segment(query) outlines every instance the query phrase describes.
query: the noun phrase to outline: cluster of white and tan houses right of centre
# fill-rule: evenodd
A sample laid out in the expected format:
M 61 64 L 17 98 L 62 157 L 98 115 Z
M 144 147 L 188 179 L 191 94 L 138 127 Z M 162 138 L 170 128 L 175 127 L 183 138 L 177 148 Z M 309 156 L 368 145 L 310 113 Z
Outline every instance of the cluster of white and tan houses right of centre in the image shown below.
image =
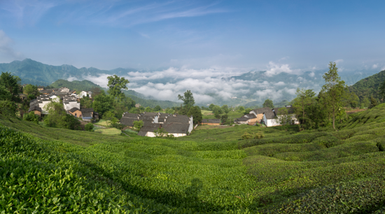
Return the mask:
M 295 117 L 292 106 L 285 106 L 284 108 L 288 110 L 288 114 L 291 117 L 290 124 L 299 124 L 300 122 Z M 279 117 L 281 117 L 281 115 L 279 115 L 278 109 L 279 108 L 268 107 L 253 109 L 247 115 L 235 119 L 234 123 L 254 125 L 258 122 L 260 124 L 265 124 L 266 127 L 279 126 L 281 125 L 279 122 Z

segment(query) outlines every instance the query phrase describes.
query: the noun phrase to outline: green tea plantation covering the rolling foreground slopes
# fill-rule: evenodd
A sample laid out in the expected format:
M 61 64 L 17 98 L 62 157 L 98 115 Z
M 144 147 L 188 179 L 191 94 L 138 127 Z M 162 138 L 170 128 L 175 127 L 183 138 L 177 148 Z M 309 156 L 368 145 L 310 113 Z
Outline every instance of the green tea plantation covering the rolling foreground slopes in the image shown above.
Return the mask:
M 385 104 L 338 129 L 202 126 L 172 140 L 0 115 L 0 213 L 384 213 Z

